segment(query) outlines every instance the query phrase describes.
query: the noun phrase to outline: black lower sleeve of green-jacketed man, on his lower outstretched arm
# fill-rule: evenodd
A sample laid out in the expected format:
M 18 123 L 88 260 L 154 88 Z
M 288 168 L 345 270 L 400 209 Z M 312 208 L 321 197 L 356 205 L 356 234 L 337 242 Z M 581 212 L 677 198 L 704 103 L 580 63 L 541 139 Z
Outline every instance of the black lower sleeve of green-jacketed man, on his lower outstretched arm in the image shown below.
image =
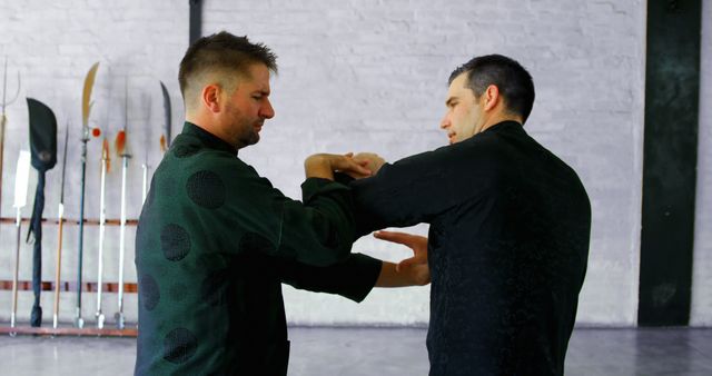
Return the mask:
M 327 267 L 288 260 L 275 260 L 275 265 L 280 280 L 295 288 L 362 301 L 376 284 L 383 263 L 366 255 L 352 254 L 345 261 Z

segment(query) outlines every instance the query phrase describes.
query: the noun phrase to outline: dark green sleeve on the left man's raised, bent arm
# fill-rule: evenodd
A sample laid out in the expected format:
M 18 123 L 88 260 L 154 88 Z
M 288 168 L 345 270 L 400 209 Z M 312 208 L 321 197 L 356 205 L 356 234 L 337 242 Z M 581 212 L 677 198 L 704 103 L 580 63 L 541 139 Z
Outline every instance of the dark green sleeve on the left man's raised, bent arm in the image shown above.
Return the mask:
M 304 201 L 293 200 L 239 159 L 211 165 L 226 186 L 225 204 L 198 220 L 215 228 L 217 249 L 259 251 L 314 266 L 345 260 L 354 238 L 349 188 L 310 178 L 303 185 Z M 206 224 L 207 225 L 207 224 Z

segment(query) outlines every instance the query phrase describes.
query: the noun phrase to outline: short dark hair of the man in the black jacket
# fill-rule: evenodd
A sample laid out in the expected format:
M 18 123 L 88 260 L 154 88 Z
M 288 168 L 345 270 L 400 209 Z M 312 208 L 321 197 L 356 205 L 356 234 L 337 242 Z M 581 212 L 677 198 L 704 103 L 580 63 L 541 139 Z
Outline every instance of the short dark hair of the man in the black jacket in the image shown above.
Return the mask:
M 467 73 L 466 86 L 479 98 L 490 85 L 500 89 L 510 112 L 522 117 L 522 122 L 532 112 L 534 106 L 534 81 L 530 72 L 518 62 L 502 55 L 476 57 L 457 67 L 447 83 L 462 73 Z

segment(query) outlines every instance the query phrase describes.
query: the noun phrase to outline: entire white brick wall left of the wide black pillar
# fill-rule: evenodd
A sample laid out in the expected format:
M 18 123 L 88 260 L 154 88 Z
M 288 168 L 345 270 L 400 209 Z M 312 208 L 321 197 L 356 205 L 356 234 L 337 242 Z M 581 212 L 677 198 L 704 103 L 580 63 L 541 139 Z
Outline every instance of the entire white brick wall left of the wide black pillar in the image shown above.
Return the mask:
M 248 34 L 279 56 L 280 73 L 273 80 L 277 116 L 267 122 L 260 144 L 240 156 L 291 197 L 299 197 L 301 161 L 309 154 L 373 150 L 395 160 L 444 145 L 437 125 L 449 72 L 477 55 L 498 52 L 520 60 L 537 87 L 528 131 L 578 171 L 593 204 L 590 268 L 578 323 L 635 324 L 644 1 L 206 0 L 204 7 L 205 33 L 225 29 Z M 109 122 L 111 137 L 123 119 L 123 77 L 131 75 L 129 121 L 135 136 L 129 146 L 136 155 L 131 195 L 140 197 L 139 160 L 146 150 L 152 166 L 160 157 L 158 79 L 171 91 L 174 119 L 177 123 L 182 119 L 176 77 L 187 47 L 188 1 L 0 1 L 0 57 L 10 57 L 11 75 L 17 69 L 22 72 L 22 95 L 52 107 L 61 129 L 71 119 L 75 140 L 82 79 L 91 63 L 101 61 L 92 120 Z M 12 106 L 8 117 L 4 217 L 12 215 L 17 150 L 28 144 L 24 105 Z M 88 169 L 87 215 L 96 217 L 99 142 L 92 140 L 89 148 L 95 158 Z M 73 169 L 66 201 L 72 218 L 79 206 L 79 150 L 75 145 L 69 156 Z M 116 160 L 115 166 L 119 166 Z M 47 217 L 56 216 L 59 174 L 55 168 L 48 175 Z M 115 170 L 109 184 L 118 187 L 119 181 Z M 115 218 L 118 188 L 109 198 L 108 215 Z M 130 217 L 138 211 L 135 199 Z M 426 227 L 417 230 L 424 232 Z M 118 228 L 109 231 L 116 236 Z M 47 226 L 44 234 L 43 273 L 50 279 L 55 227 Z M 96 279 L 96 228 L 88 228 L 85 235 L 87 280 Z M 11 276 L 12 239 L 13 227 L 3 225 L 0 279 Z M 68 226 L 62 274 L 72 280 L 76 241 L 76 227 Z M 24 278 L 29 249 L 23 248 Z M 359 240 L 355 249 L 392 260 L 407 256 L 403 248 L 370 239 Z M 116 279 L 117 253 L 118 245 L 107 249 L 107 280 Z M 135 280 L 132 254 L 127 267 L 129 280 Z M 428 288 L 377 290 L 360 305 L 290 288 L 285 295 L 293 323 L 403 325 L 424 324 L 428 317 Z M 23 294 L 20 301 L 26 317 L 30 296 Z M 113 296 L 109 297 L 105 311 L 113 313 Z M 93 295 L 86 294 L 83 301 L 85 316 L 91 317 Z M 136 317 L 135 300 L 129 303 L 127 314 Z M 49 311 L 51 294 L 44 294 L 43 306 Z M 65 295 L 63 317 L 72 316 L 72 306 L 73 295 Z M 0 293 L 1 318 L 7 319 L 9 307 L 9 293 Z

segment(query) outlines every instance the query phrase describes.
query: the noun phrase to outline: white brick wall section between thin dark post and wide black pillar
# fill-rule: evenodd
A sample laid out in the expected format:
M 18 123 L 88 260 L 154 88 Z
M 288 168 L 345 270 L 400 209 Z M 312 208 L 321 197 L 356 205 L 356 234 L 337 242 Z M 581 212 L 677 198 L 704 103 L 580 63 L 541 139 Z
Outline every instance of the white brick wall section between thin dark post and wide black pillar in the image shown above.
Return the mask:
M 310 152 L 394 160 L 444 145 L 449 72 L 477 55 L 520 60 L 538 91 L 527 129 L 580 172 L 593 202 L 578 321 L 634 325 L 644 17 L 642 1 L 207 0 L 204 31 L 248 34 L 279 56 L 277 116 L 241 156 L 295 197 Z M 355 249 L 405 256 L 370 239 Z M 360 305 L 288 288 L 286 299 L 290 319 L 305 324 L 425 323 L 428 314 L 427 288 L 377 290 Z

